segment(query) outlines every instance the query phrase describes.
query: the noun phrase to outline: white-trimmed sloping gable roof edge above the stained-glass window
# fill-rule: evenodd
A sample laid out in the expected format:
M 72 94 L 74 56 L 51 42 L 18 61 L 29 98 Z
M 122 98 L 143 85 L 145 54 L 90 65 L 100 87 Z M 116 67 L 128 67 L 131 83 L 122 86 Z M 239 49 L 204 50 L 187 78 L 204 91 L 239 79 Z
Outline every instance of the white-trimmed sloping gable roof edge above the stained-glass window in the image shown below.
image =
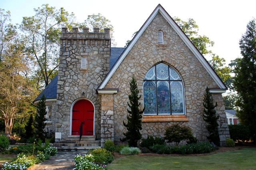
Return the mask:
M 122 63 L 126 55 L 129 53 L 129 51 L 132 49 L 136 41 L 140 38 L 142 33 L 145 31 L 145 29 L 148 27 L 148 25 L 151 23 L 151 21 L 155 18 L 156 14 L 158 12 L 165 18 L 166 21 L 171 25 L 171 27 L 176 31 L 176 33 L 180 36 L 180 38 L 184 41 L 184 43 L 188 46 L 190 51 L 196 56 L 196 58 L 200 61 L 200 63 L 204 66 L 204 68 L 207 70 L 207 72 L 210 74 L 210 76 L 213 78 L 213 80 L 216 82 L 216 84 L 219 86 L 220 89 L 224 89 L 224 91 L 227 89 L 226 85 L 222 82 L 220 77 L 216 74 L 214 69 L 210 66 L 210 64 L 206 61 L 206 59 L 203 57 L 203 55 L 198 51 L 198 49 L 195 47 L 195 45 L 190 41 L 190 39 L 186 36 L 186 34 L 182 31 L 182 29 L 178 26 L 178 24 L 170 17 L 170 15 L 164 10 L 164 8 L 158 4 L 158 6 L 155 8 L 155 10 L 152 12 L 152 14 L 149 16 L 149 18 L 146 20 L 146 22 L 142 25 L 138 33 L 134 36 L 132 41 L 129 43 L 129 45 L 126 47 L 122 55 L 118 58 L 110 72 L 108 72 L 107 76 L 104 78 L 98 89 L 103 89 L 114 72 L 117 70 L 118 66 Z

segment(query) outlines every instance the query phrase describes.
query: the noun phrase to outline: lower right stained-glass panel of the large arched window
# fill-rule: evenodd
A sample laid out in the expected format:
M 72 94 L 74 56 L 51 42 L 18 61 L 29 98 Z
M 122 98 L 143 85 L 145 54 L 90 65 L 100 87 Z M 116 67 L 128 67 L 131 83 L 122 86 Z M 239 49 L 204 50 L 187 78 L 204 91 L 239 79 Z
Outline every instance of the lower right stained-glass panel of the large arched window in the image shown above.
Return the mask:
M 171 101 L 172 101 L 172 114 L 183 114 L 184 98 L 182 82 L 170 82 L 171 87 Z

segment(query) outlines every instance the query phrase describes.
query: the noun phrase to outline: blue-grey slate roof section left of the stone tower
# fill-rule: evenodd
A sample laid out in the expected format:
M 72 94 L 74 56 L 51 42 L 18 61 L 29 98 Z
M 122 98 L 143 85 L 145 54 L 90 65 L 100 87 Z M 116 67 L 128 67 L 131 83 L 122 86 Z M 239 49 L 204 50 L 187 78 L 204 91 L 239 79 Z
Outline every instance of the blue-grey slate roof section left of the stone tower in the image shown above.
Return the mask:
M 56 99 L 57 98 L 57 83 L 58 83 L 58 75 L 55 76 L 52 81 L 45 87 L 45 89 L 37 96 L 34 100 L 40 100 L 44 94 L 46 99 Z

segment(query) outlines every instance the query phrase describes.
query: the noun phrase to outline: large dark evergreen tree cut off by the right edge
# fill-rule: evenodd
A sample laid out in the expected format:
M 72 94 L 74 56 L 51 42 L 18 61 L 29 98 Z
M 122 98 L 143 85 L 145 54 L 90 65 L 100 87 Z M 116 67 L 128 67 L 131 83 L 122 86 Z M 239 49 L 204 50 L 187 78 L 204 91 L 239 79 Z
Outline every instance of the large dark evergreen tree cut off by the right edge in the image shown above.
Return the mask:
M 242 124 L 248 125 L 256 142 L 256 20 L 247 24 L 239 42 L 242 58 L 234 69 L 234 88 L 238 94 L 237 115 Z

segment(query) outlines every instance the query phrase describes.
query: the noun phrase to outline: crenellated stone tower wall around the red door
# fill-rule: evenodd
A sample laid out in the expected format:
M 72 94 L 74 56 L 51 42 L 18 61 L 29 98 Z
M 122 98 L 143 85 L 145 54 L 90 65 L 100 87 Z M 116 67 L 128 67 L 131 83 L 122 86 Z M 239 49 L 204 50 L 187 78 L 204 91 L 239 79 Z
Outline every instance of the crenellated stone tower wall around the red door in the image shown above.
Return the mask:
M 55 132 L 62 133 L 62 139 L 70 135 L 70 109 L 77 99 L 89 99 L 95 107 L 95 135 L 100 138 L 101 98 L 96 94 L 98 85 L 109 71 L 110 36 L 109 29 L 89 32 L 84 28 L 69 32 L 62 28 L 60 61 L 57 86 L 57 107 L 54 121 Z M 86 57 L 87 68 L 81 69 L 81 57 Z M 84 95 L 82 93 L 84 92 Z

